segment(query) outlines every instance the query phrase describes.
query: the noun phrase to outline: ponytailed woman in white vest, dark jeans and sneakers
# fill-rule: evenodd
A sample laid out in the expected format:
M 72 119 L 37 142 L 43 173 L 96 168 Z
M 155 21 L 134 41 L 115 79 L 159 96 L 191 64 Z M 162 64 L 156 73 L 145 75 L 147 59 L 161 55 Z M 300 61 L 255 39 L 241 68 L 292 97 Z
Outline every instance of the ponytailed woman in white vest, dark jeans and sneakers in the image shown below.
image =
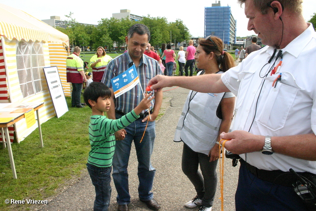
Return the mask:
M 235 66 L 234 58 L 223 47 L 222 40 L 217 37 L 198 40 L 195 59 L 197 68 L 203 69 L 198 75 L 220 74 Z M 182 171 L 197 191 L 197 196 L 185 204 L 187 208 L 200 206 L 199 211 L 212 210 L 220 156 L 219 135 L 229 131 L 234 107 L 232 92 L 189 92 L 174 136 L 174 141 L 184 142 Z

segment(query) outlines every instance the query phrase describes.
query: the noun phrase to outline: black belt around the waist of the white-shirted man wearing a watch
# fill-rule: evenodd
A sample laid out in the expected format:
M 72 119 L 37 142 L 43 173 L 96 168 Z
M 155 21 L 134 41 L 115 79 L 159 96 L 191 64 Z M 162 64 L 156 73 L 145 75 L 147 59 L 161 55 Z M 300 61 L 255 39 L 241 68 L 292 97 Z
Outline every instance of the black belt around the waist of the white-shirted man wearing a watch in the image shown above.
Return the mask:
M 246 169 L 250 171 L 253 175 L 258 177 L 261 180 L 272 182 L 277 185 L 293 187 L 293 183 L 298 181 L 298 177 L 291 172 L 284 172 L 281 170 L 263 170 L 258 169 L 254 166 L 251 166 L 244 160 L 239 160 L 241 165 L 245 165 Z M 299 175 L 306 177 L 307 179 L 313 180 L 312 177 L 315 177 L 315 174 L 310 172 L 297 172 Z

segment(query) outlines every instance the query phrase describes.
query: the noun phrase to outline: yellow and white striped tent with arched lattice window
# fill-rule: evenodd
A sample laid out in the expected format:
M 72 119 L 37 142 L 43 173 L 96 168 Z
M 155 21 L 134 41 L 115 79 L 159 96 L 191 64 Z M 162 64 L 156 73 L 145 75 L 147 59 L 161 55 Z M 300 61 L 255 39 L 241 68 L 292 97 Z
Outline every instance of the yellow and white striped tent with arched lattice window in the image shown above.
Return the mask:
M 44 102 L 41 123 L 55 117 L 42 68 L 57 66 L 65 95 L 70 96 L 67 49 L 67 35 L 19 9 L 0 4 L 0 103 Z M 29 93 L 30 89 L 34 93 Z M 36 127 L 27 128 L 24 120 L 19 121 L 10 129 L 10 138 L 15 131 L 20 142 Z

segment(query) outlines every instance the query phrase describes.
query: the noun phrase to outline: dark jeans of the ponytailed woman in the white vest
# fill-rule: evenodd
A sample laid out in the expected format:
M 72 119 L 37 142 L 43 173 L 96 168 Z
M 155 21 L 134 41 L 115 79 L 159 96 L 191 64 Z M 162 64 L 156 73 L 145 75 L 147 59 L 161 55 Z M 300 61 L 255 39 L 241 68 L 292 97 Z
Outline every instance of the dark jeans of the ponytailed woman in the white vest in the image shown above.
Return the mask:
M 218 161 L 209 162 L 209 157 L 190 149 L 185 143 L 182 151 L 182 171 L 188 176 L 202 199 L 202 205 L 212 207 L 217 185 L 216 166 Z M 201 172 L 198 171 L 198 165 Z

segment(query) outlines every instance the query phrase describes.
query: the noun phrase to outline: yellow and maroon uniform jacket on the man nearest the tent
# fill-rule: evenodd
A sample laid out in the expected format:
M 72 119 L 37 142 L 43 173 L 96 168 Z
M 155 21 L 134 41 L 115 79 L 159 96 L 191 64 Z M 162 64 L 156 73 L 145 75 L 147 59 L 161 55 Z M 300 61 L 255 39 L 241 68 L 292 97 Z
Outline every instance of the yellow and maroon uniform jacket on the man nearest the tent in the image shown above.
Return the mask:
M 83 61 L 76 54 L 70 54 L 66 59 L 67 82 L 82 84 L 83 77 L 79 73 L 83 71 Z

